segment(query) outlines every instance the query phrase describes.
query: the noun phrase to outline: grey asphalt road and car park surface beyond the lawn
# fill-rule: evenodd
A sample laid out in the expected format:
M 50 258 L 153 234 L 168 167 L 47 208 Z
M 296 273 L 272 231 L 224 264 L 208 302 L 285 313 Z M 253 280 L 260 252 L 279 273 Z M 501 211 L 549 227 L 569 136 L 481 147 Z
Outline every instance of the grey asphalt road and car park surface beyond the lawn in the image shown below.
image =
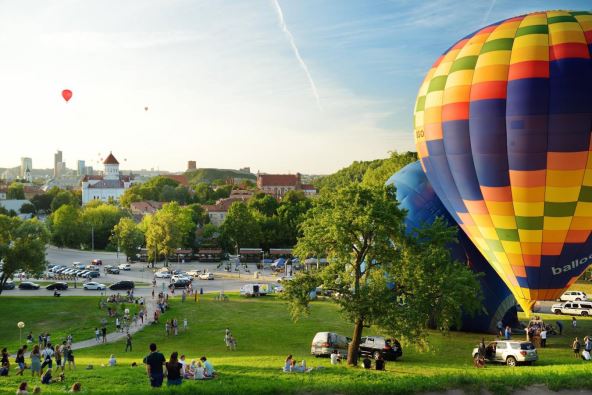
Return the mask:
M 125 263 L 125 255 L 123 254 L 116 254 L 114 252 L 92 252 L 92 251 L 79 251 L 79 250 L 70 250 L 65 248 L 56 248 L 56 247 L 49 247 L 47 249 L 47 260 L 49 263 L 53 264 L 60 264 L 71 266 L 73 262 L 81 262 L 90 264 L 91 260 L 93 259 L 101 259 L 103 261 L 103 266 L 105 265 L 113 265 L 117 266 L 120 263 Z M 161 268 L 163 263 L 159 263 L 156 266 L 156 269 Z M 246 273 L 244 270 L 240 272 L 233 272 L 231 274 L 226 273 L 220 269 L 217 269 L 217 263 L 200 263 L 200 262 L 187 262 L 187 263 L 177 263 L 177 262 L 170 262 L 169 268 L 170 269 L 179 269 L 182 271 L 189 271 L 189 270 L 206 270 L 211 273 L 214 273 L 214 280 L 199 280 L 195 279 L 193 281 L 194 289 L 199 290 L 203 288 L 205 293 L 209 292 L 220 292 L 220 291 L 227 291 L 227 292 L 236 292 L 240 289 L 240 287 L 249 282 L 275 282 L 275 277 L 271 276 L 271 272 L 269 270 L 264 270 L 261 275 L 261 279 L 255 280 L 253 273 Z M 120 274 L 105 274 L 103 270 L 101 270 L 101 277 L 93 279 L 93 281 L 98 281 L 102 283 L 114 283 L 117 281 L 122 280 L 131 280 L 136 283 L 147 283 L 151 284 L 152 279 L 154 277 L 152 268 L 149 268 L 145 262 L 137 262 L 131 264 L 132 269 L 130 271 L 120 271 Z M 242 269 L 242 266 L 241 266 Z M 255 264 L 249 264 L 249 269 L 254 272 L 255 271 Z M 238 276 L 240 275 L 240 279 Z M 35 281 L 35 280 L 32 280 Z M 168 279 L 156 279 L 156 290 L 160 291 L 169 284 Z M 116 291 L 107 291 L 108 294 L 116 293 Z M 181 292 L 180 290 L 177 292 Z M 19 296 L 27 296 L 27 295 L 52 295 L 53 291 L 45 290 L 43 287 L 39 290 L 10 290 L 10 291 L 3 291 L 2 295 L 19 295 Z M 136 296 L 149 296 L 152 293 L 152 285 L 148 286 L 138 286 L 134 290 L 134 294 Z M 89 295 L 100 295 L 99 291 L 86 291 L 82 289 L 82 282 L 77 284 L 77 288 L 70 287 L 67 291 L 62 292 L 62 296 L 89 296 Z

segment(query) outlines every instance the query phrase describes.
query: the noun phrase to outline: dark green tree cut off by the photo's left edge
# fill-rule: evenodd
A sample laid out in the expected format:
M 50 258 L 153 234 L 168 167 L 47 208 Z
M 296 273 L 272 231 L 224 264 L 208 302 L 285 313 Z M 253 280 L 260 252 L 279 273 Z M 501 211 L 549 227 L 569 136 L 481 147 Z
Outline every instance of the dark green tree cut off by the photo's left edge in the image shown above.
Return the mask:
M 21 221 L 0 215 L 0 294 L 4 284 L 18 270 L 40 274 L 45 269 L 45 245 L 49 233 L 37 219 Z

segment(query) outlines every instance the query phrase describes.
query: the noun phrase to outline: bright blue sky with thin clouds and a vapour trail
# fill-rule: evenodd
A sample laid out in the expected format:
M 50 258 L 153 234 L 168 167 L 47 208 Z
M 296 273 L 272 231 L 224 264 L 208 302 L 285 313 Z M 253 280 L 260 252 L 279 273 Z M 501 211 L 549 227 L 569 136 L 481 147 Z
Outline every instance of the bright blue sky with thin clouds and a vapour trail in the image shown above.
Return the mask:
M 326 174 L 415 150 L 436 58 L 589 0 L 0 0 L 0 167 Z M 63 89 L 73 91 L 66 103 Z M 148 110 L 145 110 L 148 107 Z

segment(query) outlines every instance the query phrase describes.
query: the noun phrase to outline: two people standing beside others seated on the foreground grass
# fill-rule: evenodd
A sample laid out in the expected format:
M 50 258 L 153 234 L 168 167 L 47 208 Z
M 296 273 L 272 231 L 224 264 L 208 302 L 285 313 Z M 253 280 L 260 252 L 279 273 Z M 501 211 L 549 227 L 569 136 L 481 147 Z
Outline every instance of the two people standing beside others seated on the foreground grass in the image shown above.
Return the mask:
M 214 366 L 205 356 L 188 363 L 185 355 L 179 357 L 175 351 L 167 361 L 155 343 L 150 344 L 150 354 L 144 358 L 144 364 L 150 385 L 155 388 L 162 386 L 165 375 L 167 386 L 180 385 L 183 380 L 206 380 L 216 376 Z

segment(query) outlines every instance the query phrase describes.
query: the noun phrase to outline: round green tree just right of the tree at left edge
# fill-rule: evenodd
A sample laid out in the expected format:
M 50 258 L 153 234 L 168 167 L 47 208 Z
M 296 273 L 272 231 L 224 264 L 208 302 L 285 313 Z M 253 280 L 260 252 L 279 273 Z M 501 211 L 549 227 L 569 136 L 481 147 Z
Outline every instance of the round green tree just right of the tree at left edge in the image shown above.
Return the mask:
M 82 222 L 78 207 L 64 204 L 48 218 L 51 242 L 56 247 L 80 248 L 80 243 L 87 238 L 87 229 Z

